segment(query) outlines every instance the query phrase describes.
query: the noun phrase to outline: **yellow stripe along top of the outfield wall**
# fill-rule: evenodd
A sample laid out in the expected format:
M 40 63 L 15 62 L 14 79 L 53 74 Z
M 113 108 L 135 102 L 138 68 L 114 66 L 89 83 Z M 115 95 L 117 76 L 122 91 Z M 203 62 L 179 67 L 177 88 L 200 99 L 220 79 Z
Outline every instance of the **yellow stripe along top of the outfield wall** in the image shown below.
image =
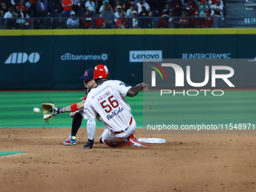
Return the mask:
M 0 30 L 0 36 L 22 35 L 255 35 L 256 29 L 34 29 Z

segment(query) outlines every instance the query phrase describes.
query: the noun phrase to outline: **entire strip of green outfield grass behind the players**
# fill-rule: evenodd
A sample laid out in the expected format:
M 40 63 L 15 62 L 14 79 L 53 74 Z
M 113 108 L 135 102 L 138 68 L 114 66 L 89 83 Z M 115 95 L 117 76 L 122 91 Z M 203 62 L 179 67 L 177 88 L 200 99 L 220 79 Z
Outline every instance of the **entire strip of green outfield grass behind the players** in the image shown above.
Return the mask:
M 0 128 L 69 128 L 72 118 L 69 113 L 58 114 L 49 124 L 44 124 L 42 112 L 35 114 L 32 109 L 41 108 L 49 100 L 58 107 L 66 107 L 81 101 L 83 91 L 56 92 L 1 92 Z M 224 96 L 160 96 L 159 92 L 139 93 L 133 98 L 126 97 L 132 108 L 133 117 L 139 128 L 144 120 L 151 123 L 255 123 L 256 91 L 225 91 Z M 143 108 L 144 107 L 144 108 Z M 81 127 L 86 127 L 83 120 Z M 97 127 L 103 124 L 97 121 Z

